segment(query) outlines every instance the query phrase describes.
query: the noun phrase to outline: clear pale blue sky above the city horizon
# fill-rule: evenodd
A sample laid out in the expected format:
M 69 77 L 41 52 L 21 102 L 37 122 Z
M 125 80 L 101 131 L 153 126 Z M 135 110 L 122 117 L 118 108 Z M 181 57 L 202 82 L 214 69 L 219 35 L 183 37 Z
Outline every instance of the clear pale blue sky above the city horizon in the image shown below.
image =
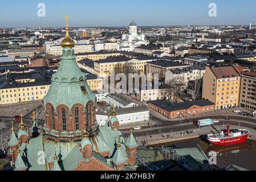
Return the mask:
M 12 1 L 2 5 L 0 27 L 64 27 L 63 16 L 71 17 L 71 27 L 123 27 L 135 19 L 138 26 L 252 25 L 256 24 L 253 5 L 243 1 Z M 39 3 L 46 6 L 46 16 L 39 17 Z M 215 3 L 217 16 L 209 16 L 209 4 Z M 20 7 L 23 7 L 20 9 Z M 91 8 L 92 7 L 92 8 Z M 246 7 L 246 8 L 245 8 Z M 126 11 L 123 11 L 125 9 Z M 72 11 L 71 11 L 72 10 Z M 76 11 L 73 11 L 76 10 Z M 64 13 L 64 14 L 63 14 Z M 237 17 L 239 14 L 239 17 Z

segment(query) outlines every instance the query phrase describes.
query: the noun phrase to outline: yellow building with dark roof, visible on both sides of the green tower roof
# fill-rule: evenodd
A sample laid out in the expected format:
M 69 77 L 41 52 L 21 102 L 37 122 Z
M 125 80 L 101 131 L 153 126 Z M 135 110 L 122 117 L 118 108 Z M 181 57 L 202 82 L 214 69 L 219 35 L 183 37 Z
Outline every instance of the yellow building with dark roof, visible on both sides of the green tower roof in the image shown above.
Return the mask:
M 42 100 L 51 84 L 53 72 L 14 73 L 0 77 L 0 105 Z M 87 83 L 92 91 L 103 89 L 102 78 L 87 74 Z

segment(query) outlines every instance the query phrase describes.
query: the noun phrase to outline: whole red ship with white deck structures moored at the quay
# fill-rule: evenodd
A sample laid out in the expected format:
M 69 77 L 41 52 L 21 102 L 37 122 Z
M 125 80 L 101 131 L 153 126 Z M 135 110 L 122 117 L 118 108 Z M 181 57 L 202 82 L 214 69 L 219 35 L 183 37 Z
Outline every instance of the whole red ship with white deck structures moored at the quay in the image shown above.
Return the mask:
M 226 130 L 221 130 L 220 134 L 209 134 L 207 135 L 208 142 L 219 145 L 227 146 L 231 144 L 243 143 L 246 141 L 249 131 L 248 130 L 237 130 L 229 129 L 230 125 L 227 125 Z

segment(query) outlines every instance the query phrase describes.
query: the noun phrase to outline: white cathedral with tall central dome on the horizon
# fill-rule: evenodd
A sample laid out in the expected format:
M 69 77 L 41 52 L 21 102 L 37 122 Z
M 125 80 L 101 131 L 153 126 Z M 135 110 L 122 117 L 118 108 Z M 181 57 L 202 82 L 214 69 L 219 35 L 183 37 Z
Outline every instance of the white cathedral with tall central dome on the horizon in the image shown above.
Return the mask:
M 129 24 L 129 34 L 123 34 L 119 44 L 121 51 L 134 51 L 135 47 L 148 46 L 149 41 L 144 34 L 137 33 L 137 24 L 132 20 Z

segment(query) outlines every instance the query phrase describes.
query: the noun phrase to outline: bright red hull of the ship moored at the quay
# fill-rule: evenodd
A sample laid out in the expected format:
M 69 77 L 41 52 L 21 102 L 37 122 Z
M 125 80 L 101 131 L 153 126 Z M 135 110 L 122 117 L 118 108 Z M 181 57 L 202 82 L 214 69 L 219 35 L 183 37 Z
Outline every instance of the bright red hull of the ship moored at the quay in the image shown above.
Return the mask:
M 208 142 L 210 142 L 213 145 L 218 145 L 218 146 L 229 146 L 231 144 L 238 144 L 238 143 L 243 143 L 246 141 L 247 137 L 249 134 L 242 135 L 239 137 L 230 137 L 230 138 L 219 138 L 219 139 L 212 139 L 208 138 Z

